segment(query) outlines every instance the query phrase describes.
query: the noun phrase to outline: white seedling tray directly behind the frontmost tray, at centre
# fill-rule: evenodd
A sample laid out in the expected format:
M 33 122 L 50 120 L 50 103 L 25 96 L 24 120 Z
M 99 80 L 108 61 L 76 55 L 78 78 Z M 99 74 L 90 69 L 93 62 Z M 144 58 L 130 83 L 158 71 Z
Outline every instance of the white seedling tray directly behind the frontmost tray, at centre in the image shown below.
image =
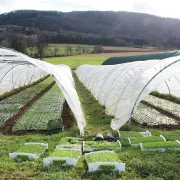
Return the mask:
M 121 143 L 108 141 L 83 141 L 83 152 L 99 151 L 99 150 L 119 150 Z

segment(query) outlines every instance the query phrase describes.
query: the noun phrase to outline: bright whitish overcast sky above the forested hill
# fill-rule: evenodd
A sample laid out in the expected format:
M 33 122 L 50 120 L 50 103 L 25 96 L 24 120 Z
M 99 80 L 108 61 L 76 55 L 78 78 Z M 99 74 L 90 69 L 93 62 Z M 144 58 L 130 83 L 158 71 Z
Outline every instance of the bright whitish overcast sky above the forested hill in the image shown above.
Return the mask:
M 180 18 L 180 0 L 0 0 L 0 13 L 20 9 L 86 11 L 112 10 Z

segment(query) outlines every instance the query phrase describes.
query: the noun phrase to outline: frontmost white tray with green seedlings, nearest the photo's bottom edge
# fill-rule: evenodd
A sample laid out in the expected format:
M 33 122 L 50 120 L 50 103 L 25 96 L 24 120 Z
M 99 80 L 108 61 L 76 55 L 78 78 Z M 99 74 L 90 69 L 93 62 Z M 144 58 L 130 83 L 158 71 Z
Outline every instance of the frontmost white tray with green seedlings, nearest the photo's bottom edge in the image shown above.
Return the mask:
M 92 171 L 125 171 L 122 163 L 114 151 L 97 151 L 85 154 L 89 172 Z

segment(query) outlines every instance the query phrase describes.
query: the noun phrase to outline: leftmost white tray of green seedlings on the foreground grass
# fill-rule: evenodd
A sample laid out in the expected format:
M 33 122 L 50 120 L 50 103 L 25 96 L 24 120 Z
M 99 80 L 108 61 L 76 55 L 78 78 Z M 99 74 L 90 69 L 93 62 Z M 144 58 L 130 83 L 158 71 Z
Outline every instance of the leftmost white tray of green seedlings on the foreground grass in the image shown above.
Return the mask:
M 48 144 L 44 143 L 25 143 L 13 153 L 9 153 L 9 157 L 17 161 L 37 159 L 42 156 L 48 148 Z

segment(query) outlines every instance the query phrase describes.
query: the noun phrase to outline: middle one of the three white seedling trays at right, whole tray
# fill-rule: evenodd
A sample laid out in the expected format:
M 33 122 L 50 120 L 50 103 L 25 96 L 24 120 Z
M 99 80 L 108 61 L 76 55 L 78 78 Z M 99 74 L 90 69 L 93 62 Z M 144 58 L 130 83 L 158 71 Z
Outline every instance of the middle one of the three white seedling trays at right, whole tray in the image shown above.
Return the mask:
M 161 142 L 166 141 L 165 137 L 160 136 L 147 136 L 147 137 L 137 137 L 137 138 L 128 138 L 129 144 L 132 146 L 139 146 L 139 143 L 146 143 L 146 142 Z

